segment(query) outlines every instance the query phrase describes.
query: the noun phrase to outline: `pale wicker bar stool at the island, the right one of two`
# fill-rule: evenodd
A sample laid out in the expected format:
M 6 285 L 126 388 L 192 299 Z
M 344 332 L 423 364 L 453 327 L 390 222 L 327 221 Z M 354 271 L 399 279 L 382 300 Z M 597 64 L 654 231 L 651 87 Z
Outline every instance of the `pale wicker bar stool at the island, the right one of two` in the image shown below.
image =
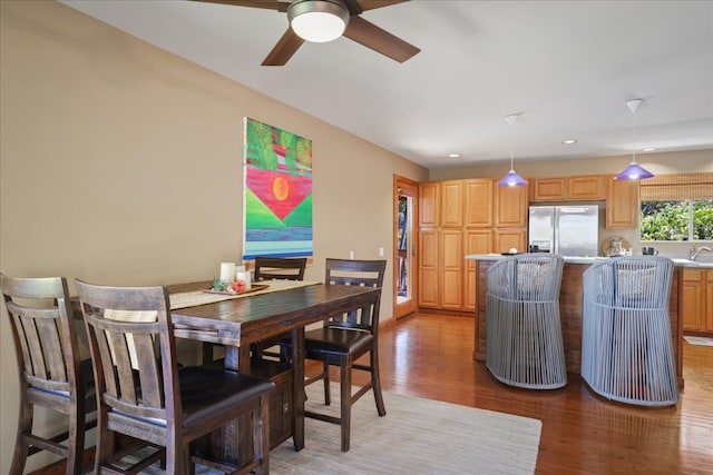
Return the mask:
M 668 316 L 673 261 L 618 257 L 584 273 L 582 377 L 607 399 L 678 400 Z

